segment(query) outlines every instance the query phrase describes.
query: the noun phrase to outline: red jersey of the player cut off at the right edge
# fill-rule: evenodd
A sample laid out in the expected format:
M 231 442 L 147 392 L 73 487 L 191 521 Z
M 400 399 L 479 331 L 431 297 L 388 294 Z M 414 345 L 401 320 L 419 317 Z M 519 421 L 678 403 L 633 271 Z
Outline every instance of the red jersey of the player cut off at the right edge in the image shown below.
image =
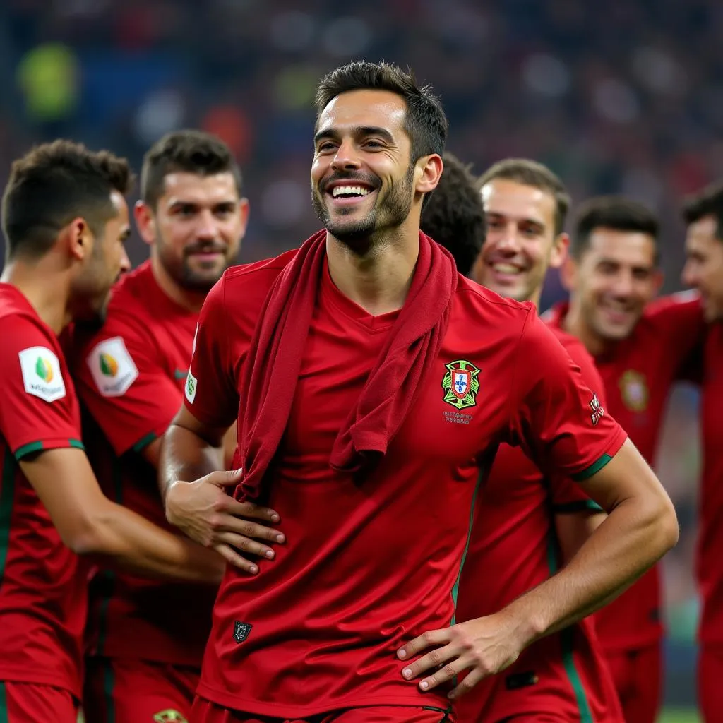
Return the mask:
M 696 577 L 703 610 L 698 636 L 705 644 L 723 643 L 723 324 L 712 324 L 705 346 L 701 395 L 703 482 L 700 495 Z

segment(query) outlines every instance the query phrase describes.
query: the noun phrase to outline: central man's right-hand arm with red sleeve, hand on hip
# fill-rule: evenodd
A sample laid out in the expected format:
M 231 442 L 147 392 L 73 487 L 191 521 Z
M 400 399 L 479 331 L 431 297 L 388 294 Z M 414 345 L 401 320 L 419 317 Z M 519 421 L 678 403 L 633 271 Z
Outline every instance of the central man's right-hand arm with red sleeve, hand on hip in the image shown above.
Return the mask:
M 469 669 L 451 698 L 508 667 L 536 639 L 602 607 L 677 542 L 675 509 L 654 472 L 632 442 L 621 446 L 625 435 L 581 384 L 569 357 L 545 342 L 539 327 L 534 334 L 537 348 L 528 348 L 523 359 L 545 364 L 526 367 L 526 374 L 536 379 L 521 406 L 526 418 L 520 441 L 529 440 L 543 469 L 584 479 L 584 492 L 608 515 L 568 565 L 505 609 L 429 631 L 398 651 L 408 660 L 435 647 L 403 669 L 409 680 L 422 676 L 422 690 Z M 435 667 L 440 669 L 423 677 Z

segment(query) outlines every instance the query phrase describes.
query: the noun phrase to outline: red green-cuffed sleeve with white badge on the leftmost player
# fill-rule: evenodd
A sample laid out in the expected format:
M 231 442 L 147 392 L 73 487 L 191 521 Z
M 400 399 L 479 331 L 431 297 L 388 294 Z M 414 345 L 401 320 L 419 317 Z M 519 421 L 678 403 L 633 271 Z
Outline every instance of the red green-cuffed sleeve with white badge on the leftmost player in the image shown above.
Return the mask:
M 5 318 L 2 325 L 0 429 L 15 458 L 82 449 L 74 387 L 57 341 L 25 317 Z

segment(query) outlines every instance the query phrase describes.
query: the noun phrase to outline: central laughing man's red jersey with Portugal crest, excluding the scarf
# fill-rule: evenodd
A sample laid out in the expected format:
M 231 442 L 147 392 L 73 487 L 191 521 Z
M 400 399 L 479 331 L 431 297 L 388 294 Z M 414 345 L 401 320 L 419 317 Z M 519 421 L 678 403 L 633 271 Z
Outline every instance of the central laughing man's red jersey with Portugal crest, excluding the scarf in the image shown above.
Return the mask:
M 236 419 L 260 306 L 293 254 L 229 270 L 210 292 L 186 390 L 202 422 Z M 460 277 L 438 359 L 388 453 L 363 479 L 335 471 L 335 437 L 396 317 L 370 316 L 325 270 L 265 482 L 288 542 L 253 578 L 227 570 L 203 698 L 284 718 L 364 705 L 447 709 L 446 690 L 425 694 L 403 680 L 395 651 L 453 618 L 480 466 L 507 441 L 546 468 L 586 476 L 623 444 L 534 307 Z M 450 388 L 460 369 L 470 372 L 464 398 Z

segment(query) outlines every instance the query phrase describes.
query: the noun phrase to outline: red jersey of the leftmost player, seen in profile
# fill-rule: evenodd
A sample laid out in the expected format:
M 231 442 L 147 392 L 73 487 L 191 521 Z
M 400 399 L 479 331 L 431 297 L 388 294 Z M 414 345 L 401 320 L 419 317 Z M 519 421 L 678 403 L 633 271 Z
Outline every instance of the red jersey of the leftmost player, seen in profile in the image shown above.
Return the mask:
M 53 331 L 0 283 L 0 680 L 80 698 L 88 568 L 63 544 L 17 461 L 77 447 L 80 408 Z

